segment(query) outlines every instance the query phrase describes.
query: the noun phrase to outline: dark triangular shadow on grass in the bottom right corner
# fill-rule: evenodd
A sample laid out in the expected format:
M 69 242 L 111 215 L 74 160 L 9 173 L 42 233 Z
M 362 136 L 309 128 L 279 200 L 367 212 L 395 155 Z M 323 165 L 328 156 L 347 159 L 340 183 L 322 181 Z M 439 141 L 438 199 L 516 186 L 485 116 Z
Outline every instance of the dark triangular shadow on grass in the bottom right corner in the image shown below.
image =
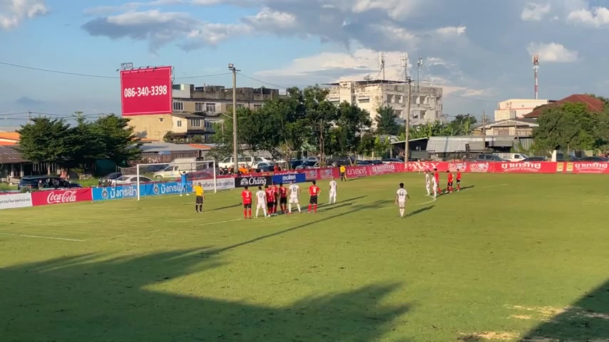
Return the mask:
M 524 308 L 528 315 L 543 316 L 560 312 L 558 316 L 533 328 L 523 342 L 533 341 L 608 341 L 609 338 L 609 280 L 575 301 L 568 308 Z M 544 339 L 545 338 L 545 339 Z

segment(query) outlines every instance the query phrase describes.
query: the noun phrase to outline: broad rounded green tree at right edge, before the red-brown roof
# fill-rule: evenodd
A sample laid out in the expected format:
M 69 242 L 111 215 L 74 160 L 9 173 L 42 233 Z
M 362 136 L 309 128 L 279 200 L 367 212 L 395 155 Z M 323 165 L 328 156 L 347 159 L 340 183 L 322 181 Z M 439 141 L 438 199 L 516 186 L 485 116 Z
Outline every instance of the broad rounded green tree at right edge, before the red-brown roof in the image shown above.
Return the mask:
M 585 103 L 564 103 L 546 109 L 533 130 L 537 147 L 546 150 L 593 150 L 609 141 L 607 113 L 590 113 Z M 605 129 L 603 129 L 605 128 Z

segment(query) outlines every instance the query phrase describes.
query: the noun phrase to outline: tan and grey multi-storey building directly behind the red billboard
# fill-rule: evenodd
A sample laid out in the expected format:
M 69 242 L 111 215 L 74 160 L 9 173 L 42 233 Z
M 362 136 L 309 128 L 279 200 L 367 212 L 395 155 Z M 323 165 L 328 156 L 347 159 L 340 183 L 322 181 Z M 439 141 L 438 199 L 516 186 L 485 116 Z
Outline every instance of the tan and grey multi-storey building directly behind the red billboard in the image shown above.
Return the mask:
M 256 109 L 265 100 L 279 96 L 270 88 L 237 88 L 237 108 Z M 228 113 L 232 118 L 232 88 L 223 86 L 195 87 L 192 84 L 173 85 L 173 113 L 128 116 L 129 125 L 139 138 L 163 140 L 166 133 L 176 137 L 209 140 L 213 123 L 221 123 Z

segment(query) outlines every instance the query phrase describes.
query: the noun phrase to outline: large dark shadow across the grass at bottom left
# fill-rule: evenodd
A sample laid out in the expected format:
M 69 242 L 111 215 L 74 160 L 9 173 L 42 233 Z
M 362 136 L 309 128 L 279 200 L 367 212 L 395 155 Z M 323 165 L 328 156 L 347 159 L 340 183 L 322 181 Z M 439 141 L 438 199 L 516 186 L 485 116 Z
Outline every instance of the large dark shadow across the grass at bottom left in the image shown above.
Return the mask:
M 222 265 L 202 253 L 204 249 L 115 259 L 83 255 L 0 269 L 1 341 L 366 342 L 377 341 L 397 316 L 409 311 L 408 306 L 379 304 L 397 284 L 270 307 L 214 299 L 222 284 L 207 289 L 193 279 L 168 283 Z M 243 281 L 255 289 L 255 279 Z

